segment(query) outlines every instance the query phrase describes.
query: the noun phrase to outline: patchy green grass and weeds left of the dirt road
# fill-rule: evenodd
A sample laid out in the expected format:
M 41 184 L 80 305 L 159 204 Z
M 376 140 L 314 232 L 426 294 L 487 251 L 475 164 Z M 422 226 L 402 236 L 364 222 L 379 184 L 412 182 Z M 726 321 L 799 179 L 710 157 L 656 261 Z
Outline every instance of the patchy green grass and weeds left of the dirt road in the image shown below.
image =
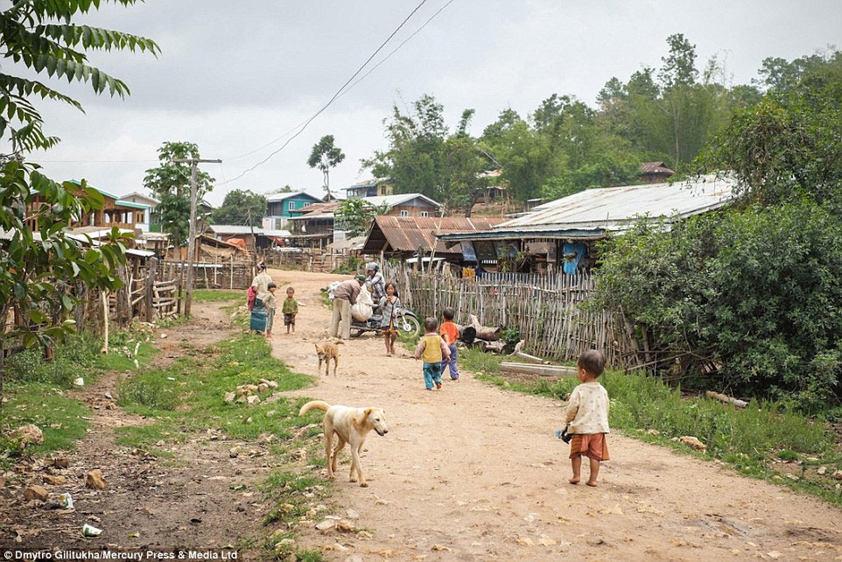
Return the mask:
M 224 304 L 242 299 L 242 292 L 200 291 L 194 296 L 198 302 Z M 285 530 L 259 539 L 264 541 L 265 555 L 284 559 L 295 554 L 301 561 L 322 560 L 317 551 L 296 549 L 296 543 L 290 540 L 295 538 L 294 530 L 290 530 L 294 526 L 286 525 L 305 515 L 313 517 L 309 513 L 312 502 L 326 498 L 331 490 L 330 484 L 312 476 L 312 465 L 323 463 L 313 454 L 320 444 L 316 437 L 321 434 L 321 426 L 314 424 L 311 416 L 297 416 L 306 399 L 278 399 L 248 409 L 222 399 L 237 385 L 256 383 L 268 372 L 279 384 L 277 392 L 306 388 L 312 378 L 290 372 L 282 361 L 274 359 L 269 342 L 262 336 L 242 332 L 210 346 L 185 342 L 175 361 L 167 367 L 152 367 L 157 350 L 150 335 L 148 326 L 136 324 L 133 329 L 111 335 L 109 354 L 100 354 L 101 340 L 81 336 L 56 346 L 53 361 L 45 361 L 42 352 L 34 349 L 8 359 L 8 403 L 3 407 L 0 435 L 32 423 L 42 429 L 45 439 L 43 445 L 25 449 L 0 439 L 0 472 L 12 469 L 20 460 L 72 450 L 84 437 L 93 415 L 71 398 L 69 392 L 77 388 L 74 381 L 83 377 L 87 386 L 106 372 L 121 373 L 115 393 L 117 404 L 152 423 L 119 428 L 116 441 L 120 446 L 148 452 L 162 463 L 178 464 L 179 456 L 173 449 L 197 436 L 269 442 L 275 468 L 260 486 L 271 504 L 264 523 Z M 304 457 L 302 451 L 306 451 Z M 307 468 L 301 462 L 305 459 Z

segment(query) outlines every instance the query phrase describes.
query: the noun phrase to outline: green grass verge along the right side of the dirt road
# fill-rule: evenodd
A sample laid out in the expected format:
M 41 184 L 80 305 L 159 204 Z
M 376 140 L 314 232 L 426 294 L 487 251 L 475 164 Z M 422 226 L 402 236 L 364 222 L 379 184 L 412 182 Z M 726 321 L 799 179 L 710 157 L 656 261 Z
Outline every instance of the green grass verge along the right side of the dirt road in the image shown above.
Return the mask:
M 460 356 L 464 368 L 483 373 L 478 377 L 500 388 L 564 400 L 578 384 L 575 377 L 510 381 L 498 374 L 501 360 L 472 350 Z M 600 383 L 610 396 L 612 429 L 682 452 L 690 450 L 674 439 L 695 436 L 707 450 L 691 454 L 719 459 L 740 474 L 786 484 L 842 506 L 842 490 L 831 476 L 842 468 L 834 434 L 795 409 L 759 401 L 733 408 L 713 399 L 682 396 L 679 388 L 636 374 L 605 372 Z M 818 474 L 819 467 L 826 468 L 824 475 Z

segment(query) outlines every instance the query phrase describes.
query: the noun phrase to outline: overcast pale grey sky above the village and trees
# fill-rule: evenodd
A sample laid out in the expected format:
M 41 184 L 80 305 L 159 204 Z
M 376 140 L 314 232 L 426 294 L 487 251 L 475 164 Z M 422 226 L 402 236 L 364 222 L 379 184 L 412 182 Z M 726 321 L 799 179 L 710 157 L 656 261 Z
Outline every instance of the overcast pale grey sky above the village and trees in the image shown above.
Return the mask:
M 444 105 L 451 130 L 477 110 L 478 136 L 501 110 L 533 112 L 553 93 L 595 106 L 612 76 L 626 81 L 659 67 L 667 36 L 683 33 L 701 68 L 725 62 L 729 85 L 749 83 L 767 56 L 791 60 L 842 45 L 840 0 L 427 0 L 369 67 L 429 24 L 269 157 L 397 29 L 420 0 L 147 0 L 103 4 L 77 19 L 157 41 L 162 54 L 93 53 L 91 62 L 131 88 L 126 99 L 61 84 L 83 102 L 39 104 L 61 144 L 30 159 L 54 179 L 88 179 L 116 194 L 141 190 L 163 142 L 188 141 L 216 178 L 206 198 L 232 189 L 265 193 L 283 185 L 322 195 L 322 174 L 306 165 L 312 145 L 332 134 L 346 158 L 332 190 L 370 177 L 360 158 L 386 148 L 392 105 L 422 94 Z M 8 4 L 8 0 L 3 0 Z M 5 9 L 5 8 L 3 8 Z M 3 63 L 3 72 L 12 72 Z M 286 135 L 286 136 L 285 136 Z M 344 195 L 344 192 L 342 193 Z

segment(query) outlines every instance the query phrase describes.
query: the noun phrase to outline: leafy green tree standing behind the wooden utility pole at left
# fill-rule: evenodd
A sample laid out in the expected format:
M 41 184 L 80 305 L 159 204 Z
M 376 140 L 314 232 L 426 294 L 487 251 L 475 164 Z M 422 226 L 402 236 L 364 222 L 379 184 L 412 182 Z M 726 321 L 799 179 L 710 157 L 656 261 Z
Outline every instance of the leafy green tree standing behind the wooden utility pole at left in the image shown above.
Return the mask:
M 147 169 L 143 185 L 160 203 L 155 211 L 161 218 L 163 232 L 169 234 L 170 242 L 181 248 L 187 243 L 190 227 L 190 165 L 173 162 L 173 159 L 200 158 L 199 147 L 193 142 L 164 142 L 158 148 L 157 168 Z M 201 201 L 213 182 L 206 172 L 196 175 L 196 198 Z

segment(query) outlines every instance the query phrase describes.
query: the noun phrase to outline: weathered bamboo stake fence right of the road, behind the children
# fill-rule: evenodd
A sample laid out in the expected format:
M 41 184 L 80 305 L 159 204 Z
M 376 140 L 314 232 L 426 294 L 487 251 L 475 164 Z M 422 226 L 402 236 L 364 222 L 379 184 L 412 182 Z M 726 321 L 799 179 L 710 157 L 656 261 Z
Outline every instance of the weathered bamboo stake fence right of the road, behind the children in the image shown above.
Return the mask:
M 482 325 L 516 326 L 525 340 L 524 351 L 555 361 L 574 361 L 589 349 L 602 351 L 611 367 L 640 361 L 622 318 L 581 306 L 594 291 L 588 273 L 485 273 L 463 279 L 453 275 L 453 269 L 441 265 L 418 272 L 384 264 L 386 280 L 397 282 L 403 305 L 423 317 L 440 318 L 442 310 L 452 307 L 457 324 L 468 324 L 469 315 L 475 314 Z

